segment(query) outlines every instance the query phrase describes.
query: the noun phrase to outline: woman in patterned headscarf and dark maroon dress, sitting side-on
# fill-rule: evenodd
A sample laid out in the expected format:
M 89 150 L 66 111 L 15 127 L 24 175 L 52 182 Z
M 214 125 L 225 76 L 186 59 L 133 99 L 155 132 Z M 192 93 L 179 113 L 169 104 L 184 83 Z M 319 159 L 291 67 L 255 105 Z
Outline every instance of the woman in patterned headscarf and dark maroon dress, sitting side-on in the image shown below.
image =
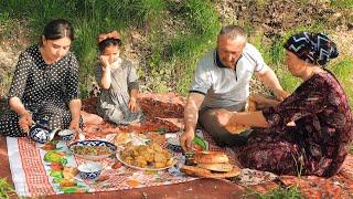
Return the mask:
M 338 56 L 335 44 L 323 33 L 302 32 L 285 44 L 286 64 L 301 85 L 284 102 L 259 112 L 218 111 L 225 127 L 256 128 L 239 148 L 244 167 L 279 175 L 335 175 L 352 140 L 352 114 L 335 76 L 324 69 Z M 295 126 L 288 126 L 295 122 Z

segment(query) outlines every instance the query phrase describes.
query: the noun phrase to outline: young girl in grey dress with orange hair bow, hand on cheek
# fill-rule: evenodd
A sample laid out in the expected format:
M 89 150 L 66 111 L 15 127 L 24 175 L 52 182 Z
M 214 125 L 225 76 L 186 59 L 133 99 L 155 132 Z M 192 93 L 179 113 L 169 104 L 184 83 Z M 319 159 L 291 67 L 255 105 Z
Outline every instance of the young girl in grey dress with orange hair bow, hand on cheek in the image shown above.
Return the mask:
M 96 81 L 101 94 L 98 114 L 115 124 L 140 123 L 143 114 L 137 104 L 138 78 L 132 63 L 120 57 L 121 39 L 117 31 L 98 36 L 99 64 Z

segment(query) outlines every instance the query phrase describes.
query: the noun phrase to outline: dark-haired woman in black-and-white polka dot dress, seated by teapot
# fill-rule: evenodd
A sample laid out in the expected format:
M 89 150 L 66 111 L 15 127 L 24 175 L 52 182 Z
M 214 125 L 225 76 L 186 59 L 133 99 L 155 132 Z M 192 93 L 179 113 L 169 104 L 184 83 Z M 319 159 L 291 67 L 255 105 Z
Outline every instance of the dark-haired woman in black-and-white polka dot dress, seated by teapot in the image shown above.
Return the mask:
M 26 136 L 33 121 L 49 118 L 50 128 L 83 126 L 78 88 L 78 63 L 69 52 L 74 31 L 66 20 L 44 28 L 41 44 L 19 56 L 8 94 L 10 109 L 0 118 L 0 135 Z

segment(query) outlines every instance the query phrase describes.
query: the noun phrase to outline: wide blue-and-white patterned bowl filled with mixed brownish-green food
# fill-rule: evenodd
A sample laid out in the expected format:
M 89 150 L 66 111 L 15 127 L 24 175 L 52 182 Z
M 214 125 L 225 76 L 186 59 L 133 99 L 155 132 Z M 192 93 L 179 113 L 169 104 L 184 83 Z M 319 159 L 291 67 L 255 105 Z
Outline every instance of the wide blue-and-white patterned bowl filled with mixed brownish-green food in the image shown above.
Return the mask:
M 104 140 L 81 140 L 73 143 L 68 149 L 77 157 L 88 160 L 100 160 L 117 151 L 117 147 Z

